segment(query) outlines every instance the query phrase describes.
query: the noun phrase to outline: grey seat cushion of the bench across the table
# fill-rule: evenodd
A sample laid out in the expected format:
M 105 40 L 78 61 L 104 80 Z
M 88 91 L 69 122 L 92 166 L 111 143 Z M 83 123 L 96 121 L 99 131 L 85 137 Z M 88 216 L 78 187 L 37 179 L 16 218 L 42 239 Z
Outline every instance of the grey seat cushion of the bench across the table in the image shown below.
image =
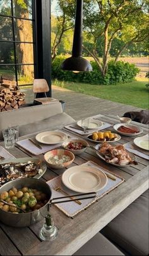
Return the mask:
M 71 116 L 63 112 L 61 114 L 51 116 L 51 118 L 28 123 L 27 125 L 21 125 L 19 127 L 19 136 L 36 133 L 38 131 L 55 130 L 57 128 L 62 128 L 74 122 L 75 120 L 71 118 Z

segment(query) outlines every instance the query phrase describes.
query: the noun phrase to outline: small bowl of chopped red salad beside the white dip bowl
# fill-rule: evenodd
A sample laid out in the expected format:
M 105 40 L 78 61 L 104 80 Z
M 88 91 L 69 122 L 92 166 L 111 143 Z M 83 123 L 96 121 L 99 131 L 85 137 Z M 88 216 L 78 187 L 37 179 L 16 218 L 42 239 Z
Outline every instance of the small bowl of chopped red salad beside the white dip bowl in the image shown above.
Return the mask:
M 88 146 L 88 142 L 80 138 L 68 138 L 63 142 L 64 149 L 73 152 L 73 154 L 81 154 Z

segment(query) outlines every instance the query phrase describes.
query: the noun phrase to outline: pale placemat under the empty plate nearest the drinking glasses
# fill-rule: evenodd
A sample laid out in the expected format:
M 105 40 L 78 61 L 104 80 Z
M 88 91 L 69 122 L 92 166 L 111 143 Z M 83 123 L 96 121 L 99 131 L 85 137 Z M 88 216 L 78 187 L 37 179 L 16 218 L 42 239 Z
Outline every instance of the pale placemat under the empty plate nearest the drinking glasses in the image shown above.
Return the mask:
M 40 144 L 37 142 L 37 144 L 41 145 L 42 149 L 39 149 L 36 145 L 34 145 L 30 140 L 25 139 L 25 140 L 19 140 L 16 142 L 17 145 L 20 145 L 23 147 L 23 149 L 26 149 L 28 152 L 32 153 L 33 155 L 37 156 L 39 154 L 43 154 L 47 151 L 51 151 L 52 149 L 56 149 L 56 147 L 61 147 L 63 143 L 59 144 L 52 144 L 52 145 L 47 145 L 47 144 Z

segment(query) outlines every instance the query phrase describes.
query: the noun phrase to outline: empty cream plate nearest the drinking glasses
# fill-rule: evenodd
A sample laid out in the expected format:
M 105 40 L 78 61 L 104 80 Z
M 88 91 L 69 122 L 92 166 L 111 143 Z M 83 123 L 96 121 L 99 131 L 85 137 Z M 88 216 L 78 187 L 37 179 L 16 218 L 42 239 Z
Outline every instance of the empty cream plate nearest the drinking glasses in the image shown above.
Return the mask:
M 43 144 L 59 144 L 66 140 L 67 135 L 61 131 L 44 131 L 36 135 L 36 140 Z

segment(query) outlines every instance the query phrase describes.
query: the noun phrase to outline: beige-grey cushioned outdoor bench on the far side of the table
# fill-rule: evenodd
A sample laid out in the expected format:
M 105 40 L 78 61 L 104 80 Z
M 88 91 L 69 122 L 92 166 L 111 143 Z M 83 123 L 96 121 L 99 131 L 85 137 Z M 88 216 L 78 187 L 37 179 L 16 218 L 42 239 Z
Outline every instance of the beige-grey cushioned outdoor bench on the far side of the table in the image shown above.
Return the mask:
M 19 126 L 19 135 L 23 136 L 41 130 L 55 130 L 73 122 L 75 120 L 63 112 L 59 101 L 5 111 L 0 113 L 0 140 L 3 139 L 3 129 L 16 125 Z

